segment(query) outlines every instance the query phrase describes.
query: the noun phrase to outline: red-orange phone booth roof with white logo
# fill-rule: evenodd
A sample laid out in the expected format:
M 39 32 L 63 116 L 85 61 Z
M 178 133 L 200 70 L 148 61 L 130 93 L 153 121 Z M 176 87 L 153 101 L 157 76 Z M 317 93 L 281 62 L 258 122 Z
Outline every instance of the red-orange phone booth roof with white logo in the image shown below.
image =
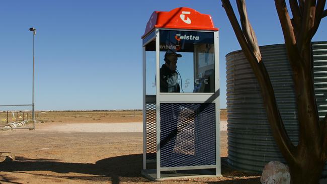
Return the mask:
M 154 28 L 218 31 L 218 28 L 214 27 L 210 15 L 200 14 L 186 7 L 176 8 L 170 12 L 153 12 L 146 24 L 142 38 Z

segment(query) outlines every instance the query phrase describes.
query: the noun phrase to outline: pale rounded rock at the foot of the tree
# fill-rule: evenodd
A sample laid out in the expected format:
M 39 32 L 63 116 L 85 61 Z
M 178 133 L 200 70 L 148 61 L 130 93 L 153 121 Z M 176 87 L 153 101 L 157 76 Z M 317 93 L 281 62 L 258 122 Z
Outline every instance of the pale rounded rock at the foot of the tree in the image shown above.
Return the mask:
M 288 184 L 291 181 L 289 168 L 279 161 L 271 161 L 265 165 L 260 181 L 263 184 Z

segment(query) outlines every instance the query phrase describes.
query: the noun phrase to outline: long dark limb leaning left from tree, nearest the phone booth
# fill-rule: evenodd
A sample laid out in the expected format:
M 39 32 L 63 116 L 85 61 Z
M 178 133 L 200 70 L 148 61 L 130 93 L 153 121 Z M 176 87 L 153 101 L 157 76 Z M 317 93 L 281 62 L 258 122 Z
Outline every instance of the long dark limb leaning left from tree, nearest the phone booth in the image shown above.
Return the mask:
M 274 89 L 271 84 L 266 67 L 262 62 L 262 60 L 257 60 L 257 57 L 255 56 L 254 52 L 251 50 L 251 47 L 247 42 L 246 36 L 244 36 L 244 33 L 240 29 L 239 23 L 236 19 L 236 16 L 234 14 L 233 8 L 230 5 L 229 0 L 221 0 L 221 2 L 223 4 L 223 8 L 226 11 L 227 17 L 233 27 L 236 38 L 243 50 L 243 53 L 247 57 L 254 71 L 254 74 L 256 75 L 256 78 L 258 80 L 261 89 L 261 95 L 263 97 L 264 105 L 266 108 L 268 121 L 270 123 L 274 139 L 281 153 L 283 154 L 284 158 L 287 160 L 287 162 L 294 163 L 295 157 L 293 154 L 295 152 L 294 151 L 295 147 L 287 135 L 283 120 L 280 116 L 275 95 L 274 95 Z M 241 6 L 241 8 L 243 7 Z M 239 12 L 242 12 L 242 10 L 239 10 Z M 241 15 L 241 17 L 242 16 L 245 15 Z M 250 35 L 254 35 L 254 34 L 250 34 Z

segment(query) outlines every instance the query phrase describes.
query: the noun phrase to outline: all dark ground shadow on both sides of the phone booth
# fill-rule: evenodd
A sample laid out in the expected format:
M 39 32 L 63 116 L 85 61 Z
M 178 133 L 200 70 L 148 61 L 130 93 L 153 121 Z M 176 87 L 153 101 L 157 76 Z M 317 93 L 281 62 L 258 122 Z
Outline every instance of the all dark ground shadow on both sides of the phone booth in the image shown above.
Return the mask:
M 25 157 L 16 157 L 17 161 L 0 163 L 0 171 L 27 173 L 27 171 L 52 171 L 57 173 L 80 173 L 92 174 L 94 176 L 67 176 L 29 173 L 35 176 L 46 176 L 54 178 L 66 178 L 88 181 L 108 181 L 119 183 L 120 181 L 146 182 L 148 179 L 142 177 L 142 154 L 123 155 L 106 158 L 93 163 L 69 163 L 60 162 L 53 159 L 29 159 Z M 260 178 L 245 178 L 248 176 L 258 176 L 256 173 L 244 173 L 229 168 L 226 165 L 226 157 L 222 157 L 222 175 L 228 180 L 222 181 L 202 181 L 209 184 L 213 183 L 258 183 Z M 244 178 L 239 178 L 244 177 Z M 15 178 L 3 176 L 1 181 L 13 182 Z M 201 181 L 201 180 L 199 180 Z

